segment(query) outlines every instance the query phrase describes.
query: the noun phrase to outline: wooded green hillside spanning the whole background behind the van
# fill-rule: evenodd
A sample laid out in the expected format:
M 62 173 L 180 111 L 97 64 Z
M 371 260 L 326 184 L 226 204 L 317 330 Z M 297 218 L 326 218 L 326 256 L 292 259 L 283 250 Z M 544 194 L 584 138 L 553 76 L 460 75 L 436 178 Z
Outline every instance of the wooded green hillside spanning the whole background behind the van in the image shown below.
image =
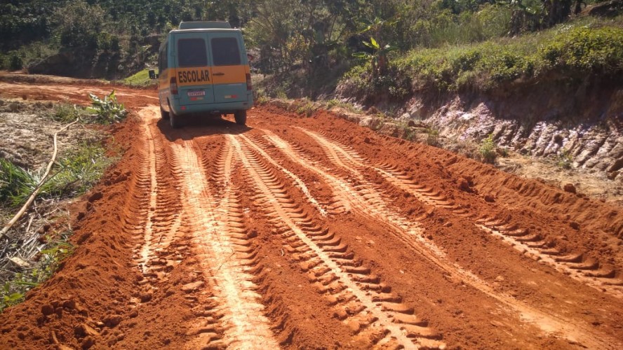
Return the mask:
M 554 71 L 617 75 L 622 8 L 590 0 L 8 0 L 0 4 L 0 68 L 123 79 L 155 65 L 164 34 L 180 21 L 228 20 L 243 29 L 255 71 L 287 77 L 267 93 L 335 86 L 348 72 L 342 82 L 359 96 L 387 90 L 400 99 L 414 81 L 486 90 Z

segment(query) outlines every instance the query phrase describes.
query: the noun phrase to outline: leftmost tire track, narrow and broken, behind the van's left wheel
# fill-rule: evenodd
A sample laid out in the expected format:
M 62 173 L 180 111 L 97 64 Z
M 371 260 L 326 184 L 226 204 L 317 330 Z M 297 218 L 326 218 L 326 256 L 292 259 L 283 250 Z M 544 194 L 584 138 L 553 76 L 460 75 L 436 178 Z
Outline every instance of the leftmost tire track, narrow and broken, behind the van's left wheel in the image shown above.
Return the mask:
M 180 181 L 175 181 L 171 173 L 175 162 L 172 150 L 163 144 L 163 137 L 154 130 L 156 113 L 157 109 L 153 108 L 142 109 L 139 113 L 145 132 L 142 149 L 147 153 L 142 154 L 138 169 L 135 169 L 139 186 L 134 196 L 140 200 L 138 210 L 133 211 L 132 217 L 141 218 L 134 228 L 135 232 L 140 232 L 141 243 L 135 247 L 133 258 L 143 278 L 138 282 L 142 291 L 137 291 L 130 298 L 133 307 L 142 307 L 143 302 L 152 300 L 152 295 L 160 288 L 168 290 L 166 295 L 173 294 L 173 290 L 168 288 L 168 275 L 183 260 L 193 258 L 187 244 L 189 229 L 183 224 L 191 221 L 191 218 L 182 207 L 182 198 L 178 195 L 183 190 L 183 182 L 180 185 Z M 194 271 L 186 276 L 189 279 L 201 279 L 201 274 Z M 189 305 L 198 304 L 192 312 L 197 322 L 201 322 L 201 328 L 191 330 L 188 335 L 201 339 L 202 345 L 219 346 L 222 344 L 222 328 L 217 320 L 217 311 L 214 310 L 215 303 L 209 299 L 213 295 L 206 288 L 190 284 L 182 286 L 183 297 Z M 201 297 L 203 300 L 199 302 Z M 185 347 L 189 346 L 186 344 Z

